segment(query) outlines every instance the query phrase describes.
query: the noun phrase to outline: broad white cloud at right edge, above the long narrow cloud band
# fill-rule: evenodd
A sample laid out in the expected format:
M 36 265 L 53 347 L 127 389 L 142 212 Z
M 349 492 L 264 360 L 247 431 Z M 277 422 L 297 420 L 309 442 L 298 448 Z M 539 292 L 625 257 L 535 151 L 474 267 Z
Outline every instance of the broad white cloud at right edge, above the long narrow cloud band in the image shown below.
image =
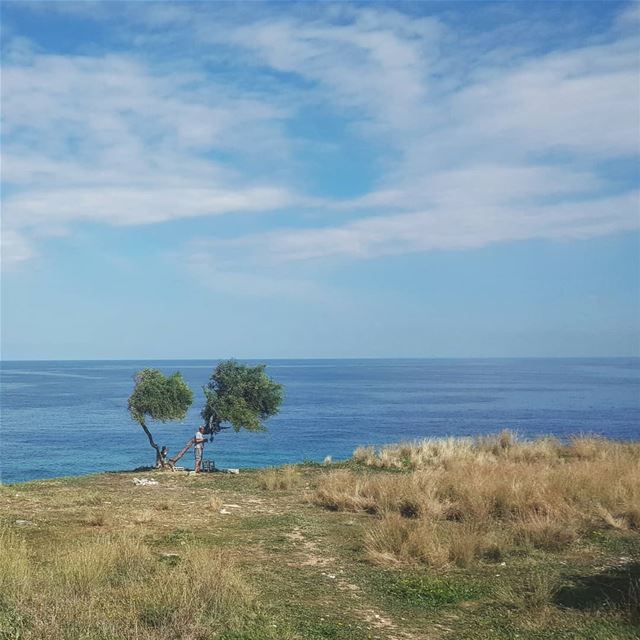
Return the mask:
M 484 71 L 452 100 L 463 144 L 521 154 L 565 150 L 600 157 L 639 145 L 638 40 L 554 53 L 515 69 Z

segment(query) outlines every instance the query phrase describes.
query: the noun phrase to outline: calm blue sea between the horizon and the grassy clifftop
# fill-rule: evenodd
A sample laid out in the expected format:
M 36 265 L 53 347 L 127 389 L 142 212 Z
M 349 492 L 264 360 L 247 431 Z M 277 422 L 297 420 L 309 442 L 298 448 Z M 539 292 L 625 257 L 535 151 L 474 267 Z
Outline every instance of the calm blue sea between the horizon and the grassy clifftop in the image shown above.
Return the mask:
M 640 359 L 273 360 L 285 388 L 267 433 L 223 431 L 206 447 L 219 467 L 348 457 L 362 444 L 509 428 L 525 437 L 640 437 Z M 3 362 L 4 483 L 133 469 L 153 450 L 127 413 L 133 374 L 180 371 L 195 392 L 184 423 L 151 424 L 176 452 L 199 424 L 216 361 Z M 192 465 L 192 454 L 183 459 Z

